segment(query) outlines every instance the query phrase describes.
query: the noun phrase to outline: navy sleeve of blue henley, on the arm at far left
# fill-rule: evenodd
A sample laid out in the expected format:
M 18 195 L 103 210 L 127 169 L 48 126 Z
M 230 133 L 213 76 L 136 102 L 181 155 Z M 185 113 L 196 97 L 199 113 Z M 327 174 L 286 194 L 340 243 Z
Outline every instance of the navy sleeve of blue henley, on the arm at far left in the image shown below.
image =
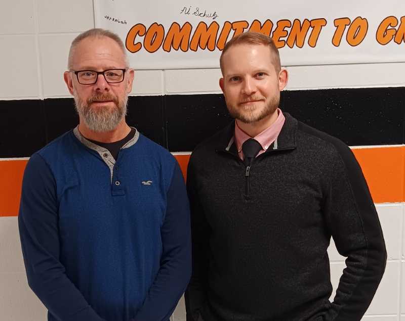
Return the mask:
M 56 183 L 38 154 L 24 172 L 18 223 L 28 285 L 50 313 L 61 321 L 102 321 L 59 261 Z

